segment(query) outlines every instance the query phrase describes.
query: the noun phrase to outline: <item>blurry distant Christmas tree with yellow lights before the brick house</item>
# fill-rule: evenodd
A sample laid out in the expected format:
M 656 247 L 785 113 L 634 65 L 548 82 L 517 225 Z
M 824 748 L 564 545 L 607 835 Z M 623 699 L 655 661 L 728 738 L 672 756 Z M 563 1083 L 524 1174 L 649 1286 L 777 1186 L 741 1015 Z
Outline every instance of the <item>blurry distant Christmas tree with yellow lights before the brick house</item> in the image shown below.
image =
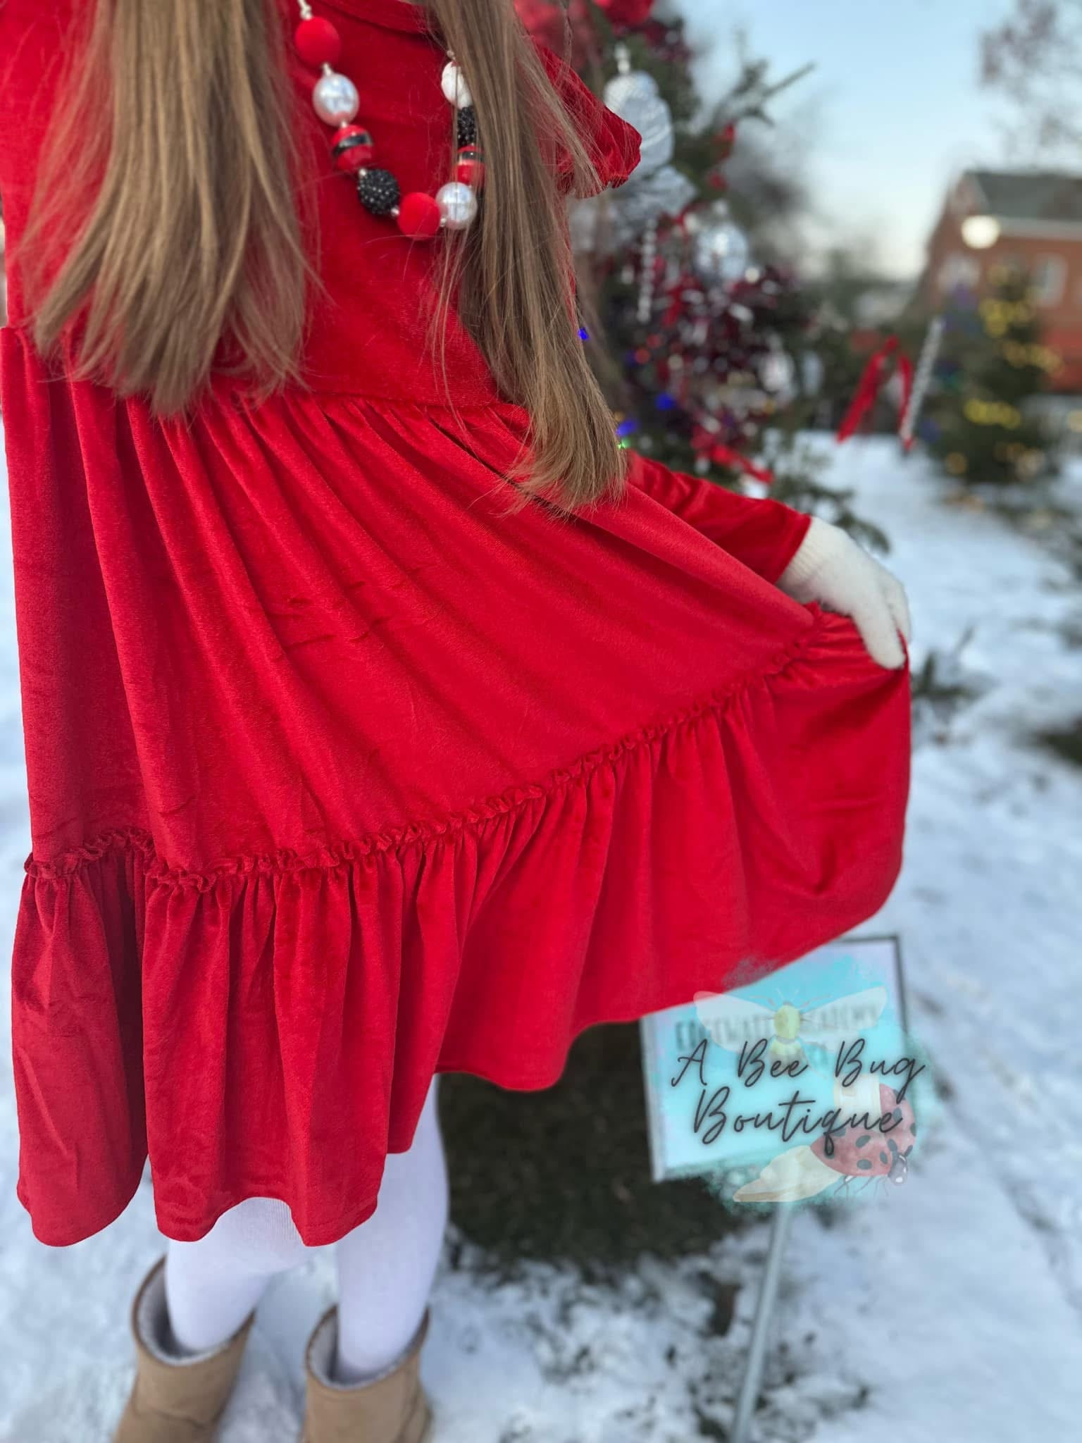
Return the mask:
M 965 483 L 1029 482 L 1055 470 L 1055 447 L 1033 400 L 1059 356 L 1042 341 L 1023 271 L 1003 267 L 984 300 L 948 313 L 926 437 Z

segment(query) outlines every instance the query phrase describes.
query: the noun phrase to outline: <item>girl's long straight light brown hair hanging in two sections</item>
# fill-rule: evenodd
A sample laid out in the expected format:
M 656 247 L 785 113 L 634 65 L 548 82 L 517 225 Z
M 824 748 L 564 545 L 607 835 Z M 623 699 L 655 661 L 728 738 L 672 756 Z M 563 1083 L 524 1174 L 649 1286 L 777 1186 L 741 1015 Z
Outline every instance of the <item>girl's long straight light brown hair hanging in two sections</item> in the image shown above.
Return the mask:
M 579 339 L 553 166 L 566 157 L 587 192 L 590 156 L 514 0 L 428 10 L 488 167 L 479 222 L 437 242 L 444 303 L 457 297 L 501 392 L 529 416 L 522 495 L 573 509 L 623 476 Z M 183 413 L 224 365 L 264 395 L 302 382 L 319 281 L 293 183 L 283 13 L 280 0 L 98 0 L 43 156 L 22 247 L 35 341 L 49 352 L 78 319 L 74 374 L 146 394 L 159 416 Z M 87 219 L 58 257 L 78 206 Z

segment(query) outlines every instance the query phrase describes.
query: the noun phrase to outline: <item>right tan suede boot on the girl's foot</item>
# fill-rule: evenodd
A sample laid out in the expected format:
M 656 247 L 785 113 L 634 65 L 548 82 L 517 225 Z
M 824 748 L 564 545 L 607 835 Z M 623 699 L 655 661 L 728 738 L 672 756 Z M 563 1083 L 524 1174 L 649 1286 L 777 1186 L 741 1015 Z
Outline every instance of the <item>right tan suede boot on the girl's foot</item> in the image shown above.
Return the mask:
M 428 1315 L 400 1361 L 369 1382 L 333 1381 L 338 1309 L 316 1325 L 304 1365 L 307 1407 L 302 1443 L 427 1443 L 431 1408 L 420 1380 L 420 1358 Z

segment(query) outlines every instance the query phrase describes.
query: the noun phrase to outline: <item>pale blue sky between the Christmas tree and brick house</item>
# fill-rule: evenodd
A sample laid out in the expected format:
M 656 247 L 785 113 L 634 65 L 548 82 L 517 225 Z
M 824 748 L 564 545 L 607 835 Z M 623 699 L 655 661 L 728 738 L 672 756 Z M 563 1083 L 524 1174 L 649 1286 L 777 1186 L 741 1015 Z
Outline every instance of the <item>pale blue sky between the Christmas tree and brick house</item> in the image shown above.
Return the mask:
M 778 76 L 817 71 L 776 102 L 806 137 L 818 234 L 870 240 L 897 274 L 920 267 L 948 180 L 1010 163 L 1006 111 L 978 85 L 978 33 L 1007 0 L 677 0 L 707 97 L 720 92 L 742 26 Z

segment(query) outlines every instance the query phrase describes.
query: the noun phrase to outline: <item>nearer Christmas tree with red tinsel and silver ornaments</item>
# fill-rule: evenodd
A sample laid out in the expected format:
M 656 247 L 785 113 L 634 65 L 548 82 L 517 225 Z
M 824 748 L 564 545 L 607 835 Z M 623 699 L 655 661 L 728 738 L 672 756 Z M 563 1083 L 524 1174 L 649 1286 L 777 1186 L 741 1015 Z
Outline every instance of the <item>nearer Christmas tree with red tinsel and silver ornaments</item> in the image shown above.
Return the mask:
M 590 354 L 623 444 L 723 485 L 769 485 L 881 544 L 802 440 L 858 374 L 848 328 L 779 245 L 805 196 L 763 137 L 805 71 L 775 79 L 734 51 L 733 84 L 705 105 L 672 7 L 519 0 L 519 13 L 643 137 L 628 185 L 571 216 Z

